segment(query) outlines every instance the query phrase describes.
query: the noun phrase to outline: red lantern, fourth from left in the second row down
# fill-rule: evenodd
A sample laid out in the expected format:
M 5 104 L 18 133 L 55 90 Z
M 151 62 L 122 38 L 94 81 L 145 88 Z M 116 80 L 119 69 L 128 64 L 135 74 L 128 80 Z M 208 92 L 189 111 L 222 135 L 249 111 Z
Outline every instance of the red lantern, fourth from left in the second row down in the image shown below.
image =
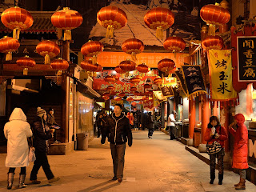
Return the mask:
M 126 54 L 131 54 L 131 58 L 134 61 L 137 61 L 136 54 L 142 53 L 144 50 L 144 44 L 137 38 L 129 38 L 122 43 L 122 50 L 126 52 Z

